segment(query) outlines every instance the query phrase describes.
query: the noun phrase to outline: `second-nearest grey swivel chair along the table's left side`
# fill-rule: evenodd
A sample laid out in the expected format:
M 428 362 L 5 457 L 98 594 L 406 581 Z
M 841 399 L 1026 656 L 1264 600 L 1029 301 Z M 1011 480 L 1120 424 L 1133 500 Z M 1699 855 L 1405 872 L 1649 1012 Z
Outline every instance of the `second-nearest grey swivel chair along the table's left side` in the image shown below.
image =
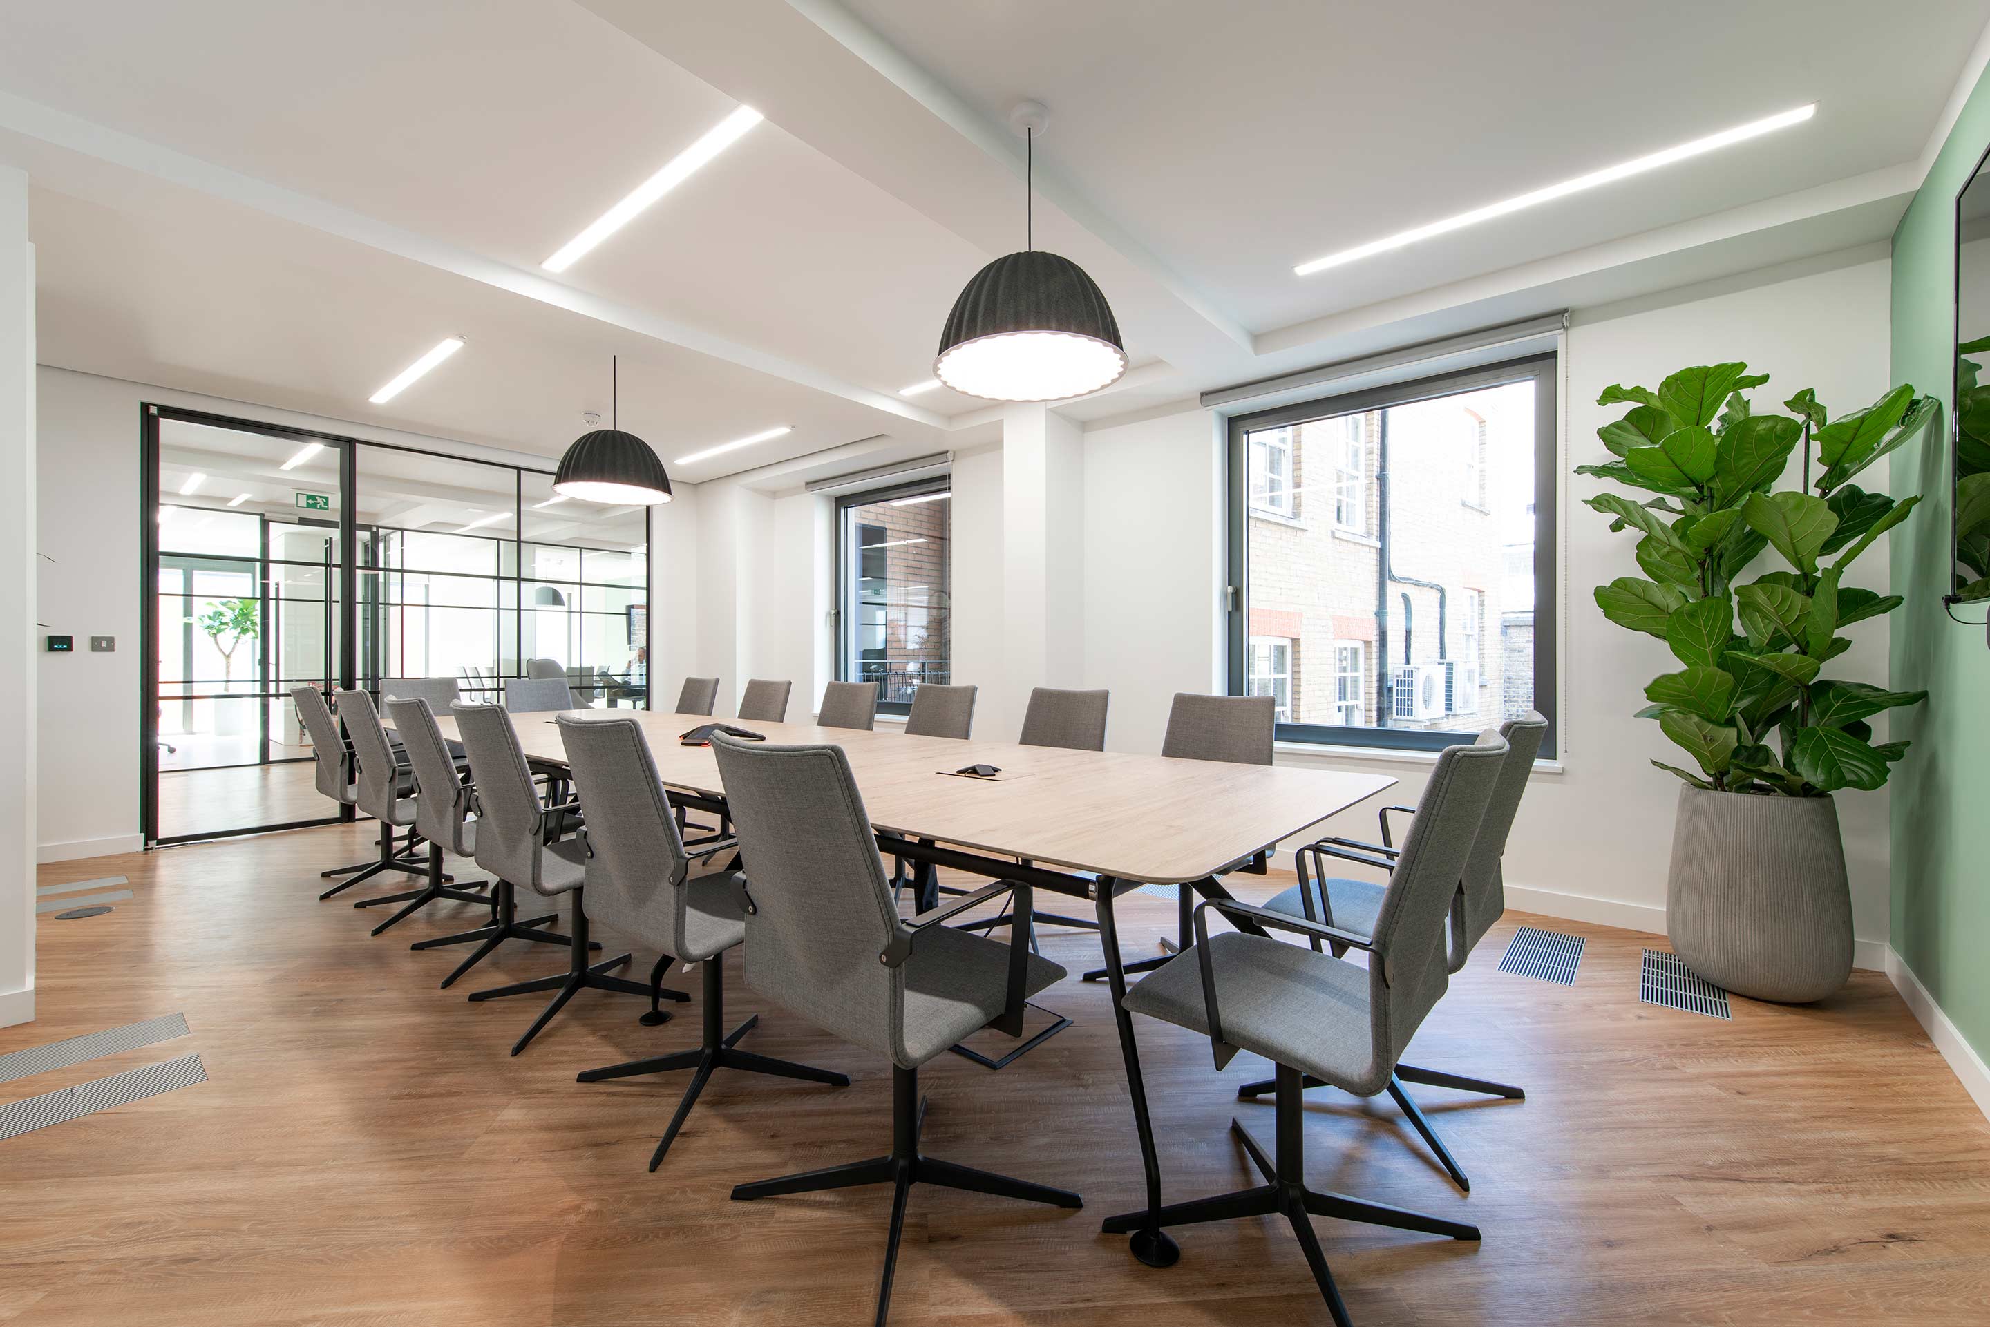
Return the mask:
M 685 855 L 671 800 L 663 792 L 643 728 L 633 718 L 609 722 L 561 718 L 559 738 L 573 768 L 573 790 L 587 808 L 583 838 L 589 911 L 619 933 L 657 947 L 651 989 L 663 985 L 663 973 L 675 961 L 702 967 L 704 1039 L 696 1048 L 589 1068 L 579 1076 L 581 1082 L 601 1082 L 691 1070 L 691 1084 L 677 1104 L 677 1114 L 671 1116 L 671 1126 L 663 1130 L 663 1142 L 651 1154 L 649 1168 L 657 1170 L 663 1164 L 706 1080 L 718 1068 L 850 1086 L 850 1078 L 826 1068 L 738 1050 L 740 1039 L 760 1023 L 760 1015 L 726 1033 L 724 955 L 746 939 L 746 915 L 726 871 L 691 873 L 691 859 Z

